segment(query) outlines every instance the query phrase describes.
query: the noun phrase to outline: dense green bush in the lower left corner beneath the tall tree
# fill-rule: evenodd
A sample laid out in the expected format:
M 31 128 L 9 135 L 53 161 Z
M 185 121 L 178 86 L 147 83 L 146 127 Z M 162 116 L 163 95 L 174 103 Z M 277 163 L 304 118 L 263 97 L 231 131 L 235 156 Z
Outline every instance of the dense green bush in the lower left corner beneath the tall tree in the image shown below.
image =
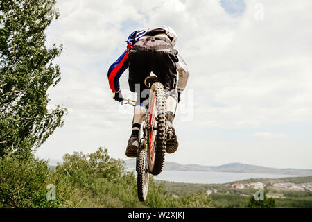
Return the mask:
M 33 157 L 0 158 L 1 207 L 66 207 L 66 201 L 61 198 L 46 200 L 46 186 L 52 182 L 62 184 L 64 180 L 53 175 L 47 162 Z M 64 192 L 60 194 L 64 196 Z

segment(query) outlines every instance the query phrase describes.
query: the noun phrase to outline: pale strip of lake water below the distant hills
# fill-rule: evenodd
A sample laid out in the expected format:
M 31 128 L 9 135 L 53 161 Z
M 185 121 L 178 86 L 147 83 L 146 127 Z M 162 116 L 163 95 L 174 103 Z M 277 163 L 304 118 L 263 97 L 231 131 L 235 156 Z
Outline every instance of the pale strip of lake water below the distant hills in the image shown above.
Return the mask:
M 134 171 L 128 169 L 128 171 Z M 135 172 L 135 171 L 134 171 Z M 137 172 L 135 172 L 136 174 Z M 206 171 L 162 171 L 155 180 L 188 183 L 226 183 L 250 178 L 286 178 L 299 175 L 271 174 L 271 173 L 232 173 L 232 172 L 206 172 Z

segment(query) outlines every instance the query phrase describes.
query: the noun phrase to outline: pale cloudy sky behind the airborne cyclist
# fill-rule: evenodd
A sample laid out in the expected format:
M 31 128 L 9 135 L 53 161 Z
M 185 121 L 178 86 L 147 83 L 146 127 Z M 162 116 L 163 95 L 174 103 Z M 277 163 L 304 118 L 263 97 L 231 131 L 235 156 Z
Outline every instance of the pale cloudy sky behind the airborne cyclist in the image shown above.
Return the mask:
M 177 110 L 181 164 L 242 162 L 312 169 L 312 2 L 243 0 L 58 1 L 47 44 L 63 44 L 62 80 L 51 107 L 69 114 L 37 150 L 65 153 L 106 147 L 127 159 L 132 108 L 112 100 L 107 69 L 138 28 L 166 24 L 190 69 Z M 124 96 L 128 71 L 121 76 Z

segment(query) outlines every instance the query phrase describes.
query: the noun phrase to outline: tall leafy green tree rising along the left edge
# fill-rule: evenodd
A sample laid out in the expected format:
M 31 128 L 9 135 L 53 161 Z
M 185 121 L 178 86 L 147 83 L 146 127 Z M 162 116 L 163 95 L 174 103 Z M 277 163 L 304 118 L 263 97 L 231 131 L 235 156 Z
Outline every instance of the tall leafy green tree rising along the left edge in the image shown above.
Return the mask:
M 44 33 L 59 15 L 55 0 L 0 1 L 0 157 L 31 153 L 63 124 L 66 109 L 47 108 L 62 46 L 48 49 Z

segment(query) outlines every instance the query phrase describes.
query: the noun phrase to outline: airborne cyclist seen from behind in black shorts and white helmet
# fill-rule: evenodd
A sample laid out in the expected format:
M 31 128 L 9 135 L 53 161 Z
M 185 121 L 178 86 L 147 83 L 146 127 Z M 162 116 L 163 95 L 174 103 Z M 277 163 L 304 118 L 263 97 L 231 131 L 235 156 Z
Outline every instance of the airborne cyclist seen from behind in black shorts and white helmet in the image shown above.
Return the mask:
M 146 114 L 148 92 L 144 80 L 150 72 L 157 76 L 166 91 L 166 118 L 168 137 L 166 152 L 174 153 L 178 142 L 173 128 L 173 119 L 180 101 L 180 94 L 187 85 L 189 69 L 177 50 L 174 49 L 177 35 L 168 26 L 157 26 L 134 31 L 128 37 L 127 49 L 108 70 L 108 82 L 114 93 L 114 100 L 123 101 L 119 87 L 121 74 L 129 67 L 128 83 L 131 92 L 137 92 L 137 103 L 132 119 L 132 133 L 128 140 L 125 155 L 137 157 L 139 130 Z

